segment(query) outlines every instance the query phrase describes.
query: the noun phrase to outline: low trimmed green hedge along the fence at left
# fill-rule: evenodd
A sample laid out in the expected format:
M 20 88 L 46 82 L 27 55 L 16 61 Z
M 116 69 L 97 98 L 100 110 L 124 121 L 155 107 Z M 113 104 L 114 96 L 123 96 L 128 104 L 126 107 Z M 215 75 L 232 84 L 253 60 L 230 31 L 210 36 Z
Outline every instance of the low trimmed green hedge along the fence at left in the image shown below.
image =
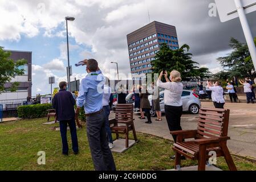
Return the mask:
M 22 119 L 46 117 L 49 109 L 52 109 L 51 104 L 19 106 L 18 117 Z

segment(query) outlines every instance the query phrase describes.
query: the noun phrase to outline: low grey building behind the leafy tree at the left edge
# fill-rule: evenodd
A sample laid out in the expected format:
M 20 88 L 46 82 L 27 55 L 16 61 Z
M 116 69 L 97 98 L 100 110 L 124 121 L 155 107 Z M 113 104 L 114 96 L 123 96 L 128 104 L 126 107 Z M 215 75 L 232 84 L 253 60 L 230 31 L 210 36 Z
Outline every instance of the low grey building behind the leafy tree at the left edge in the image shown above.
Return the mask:
M 27 98 L 27 96 L 31 96 L 32 88 L 32 52 L 6 51 L 11 52 L 10 59 L 14 61 L 25 59 L 27 60 L 27 64 L 20 67 L 20 69 L 24 69 L 24 75 L 16 76 L 11 82 L 5 84 L 6 92 L 0 94 L 0 101 Z M 16 92 L 8 92 L 7 90 L 13 82 L 19 82 L 18 89 Z

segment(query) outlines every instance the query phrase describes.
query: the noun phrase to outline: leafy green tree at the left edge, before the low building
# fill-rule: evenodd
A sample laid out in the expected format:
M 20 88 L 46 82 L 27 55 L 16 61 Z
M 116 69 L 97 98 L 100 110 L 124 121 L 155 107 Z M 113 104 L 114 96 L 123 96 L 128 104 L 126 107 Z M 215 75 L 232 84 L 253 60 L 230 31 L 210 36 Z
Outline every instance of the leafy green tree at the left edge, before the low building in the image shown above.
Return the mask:
M 19 69 L 20 66 L 26 64 L 26 60 L 18 60 L 15 61 L 10 59 L 11 53 L 4 51 L 2 47 L 0 47 L 0 94 L 5 91 L 5 84 L 10 82 L 12 78 L 15 76 L 21 76 L 24 74 L 23 69 Z M 18 82 L 13 82 L 9 91 L 15 92 L 18 87 Z

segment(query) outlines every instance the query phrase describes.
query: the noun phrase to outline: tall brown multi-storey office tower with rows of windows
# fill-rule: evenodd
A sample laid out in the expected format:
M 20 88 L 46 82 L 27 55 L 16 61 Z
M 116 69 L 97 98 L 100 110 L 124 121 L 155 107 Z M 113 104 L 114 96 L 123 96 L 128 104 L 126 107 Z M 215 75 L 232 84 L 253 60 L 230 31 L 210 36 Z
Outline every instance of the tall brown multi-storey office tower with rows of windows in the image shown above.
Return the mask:
M 127 42 L 133 78 L 152 72 L 151 61 L 162 43 L 168 44 L 170 49 L 179 48 L 176 27 L 156 21 L 128 34 Z

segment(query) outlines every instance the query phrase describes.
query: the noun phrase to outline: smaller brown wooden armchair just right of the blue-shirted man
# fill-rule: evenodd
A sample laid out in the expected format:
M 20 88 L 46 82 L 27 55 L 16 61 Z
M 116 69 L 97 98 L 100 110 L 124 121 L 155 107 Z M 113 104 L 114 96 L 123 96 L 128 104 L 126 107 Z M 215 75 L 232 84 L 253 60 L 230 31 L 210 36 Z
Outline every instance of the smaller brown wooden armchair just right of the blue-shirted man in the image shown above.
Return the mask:
M 125 134 L 125 148 L 129 147 L 129 131 L 133 131 L 133 137 L 137 142 L 133 121 L 132 104 L 118 104 L 116 106 L 116 117 L 109 120 L 110 129 L 112 133 L 116 134 L 116 139 L 119 139 L 119 134 Z

